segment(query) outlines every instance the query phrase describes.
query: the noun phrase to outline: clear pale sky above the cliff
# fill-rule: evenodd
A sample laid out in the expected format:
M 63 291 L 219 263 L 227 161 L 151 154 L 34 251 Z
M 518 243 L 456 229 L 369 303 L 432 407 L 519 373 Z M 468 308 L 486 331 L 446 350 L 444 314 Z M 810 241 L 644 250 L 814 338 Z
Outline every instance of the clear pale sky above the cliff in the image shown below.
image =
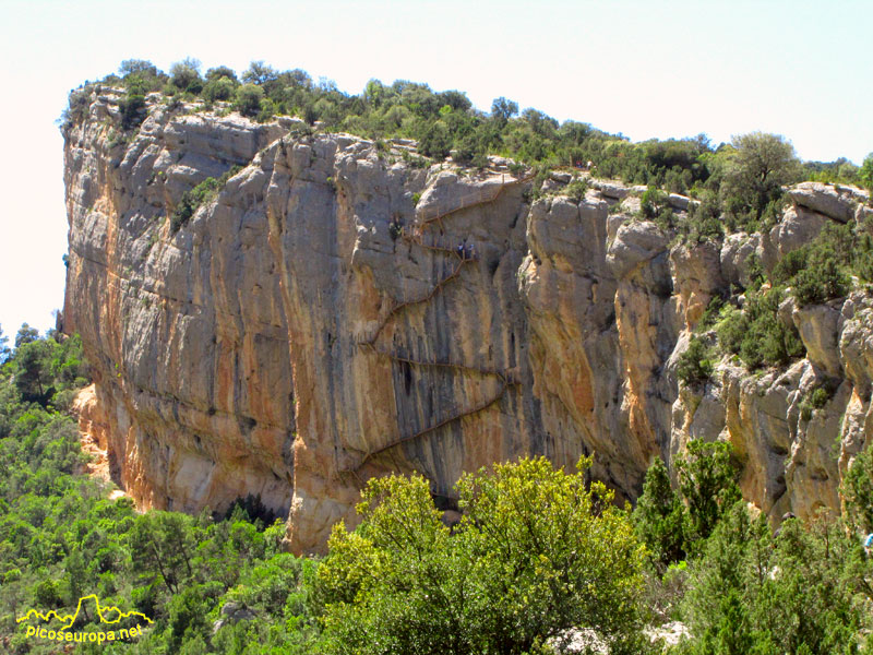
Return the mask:
M 359 93 L 368 80 L 505 96 L 634 141 L 763 130 L 804 159 L 873 151 L 869 1 L 400 2 L 0 0 L 0 325 L 63 302 L 56 119 L 122 59 L 263 59 Z

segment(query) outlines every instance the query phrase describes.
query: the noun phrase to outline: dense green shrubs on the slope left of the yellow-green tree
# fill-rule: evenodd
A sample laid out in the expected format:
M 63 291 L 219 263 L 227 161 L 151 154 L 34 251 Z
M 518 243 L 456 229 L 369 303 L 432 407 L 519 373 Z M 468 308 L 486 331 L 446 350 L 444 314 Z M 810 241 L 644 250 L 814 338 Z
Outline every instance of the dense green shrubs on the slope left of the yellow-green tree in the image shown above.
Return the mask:
M 231 654 L 253 652 L 255 644 L 256 652 L 311 653 L 318 627 L 308 590 L 315 563 L 279 552 L 284 524 L 252 522 L 244 507 L 258 509 L 256 502 L 212 520 L 208 513 L 140 514 L 130 499 L 108 500 L 103 483 L 77 473 L 87 457 L 74 420 L 53 398 L 34 403 L 16 386 L 31 368 L 57 390 L 53 397 L 85 384 L 79 338 L 31 333 L 22 333 L 0 366 L 3 652 L 55 652 L 27 639 L 16 617 L 29 608 L 72 611 L 81 597 L 97 594 L 153 620 L 125 652 Z M 226 603 L 258 620 L 216 626 Z M 104 647 L 112 646 L 82 652 Z

